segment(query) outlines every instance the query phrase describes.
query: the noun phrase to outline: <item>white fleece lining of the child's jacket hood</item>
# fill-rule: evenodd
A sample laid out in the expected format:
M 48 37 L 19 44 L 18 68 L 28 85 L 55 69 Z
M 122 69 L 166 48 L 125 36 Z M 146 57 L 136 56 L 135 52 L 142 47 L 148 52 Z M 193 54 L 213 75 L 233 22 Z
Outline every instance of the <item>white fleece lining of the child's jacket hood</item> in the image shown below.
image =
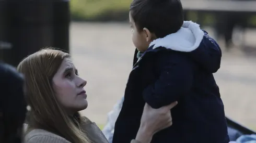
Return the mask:
M 150 43 L 149 47 L 165 47 L 176 51 L 190 52 L 199 47 L 203 40 L 204 32 L 200 25 L 192 21 L 184 21 L 180 30 L 163 38 L 157 38 Z

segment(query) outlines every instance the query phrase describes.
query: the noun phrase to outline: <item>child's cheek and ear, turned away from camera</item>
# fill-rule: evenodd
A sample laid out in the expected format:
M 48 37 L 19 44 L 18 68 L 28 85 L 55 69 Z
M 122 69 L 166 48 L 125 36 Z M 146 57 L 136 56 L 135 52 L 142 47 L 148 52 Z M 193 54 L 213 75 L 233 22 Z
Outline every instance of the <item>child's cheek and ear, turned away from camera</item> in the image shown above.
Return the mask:
M 130 24 L 132 28 L 132 41 L 134 46 L 141 52 L 147 50 L 150 42 L 152 42 L 153 34 L 149 32 L 147 28 L 144 28 L 143 31 L 138 31 L 135 25 L 135 22 L 131 16 L 131 12 L 129 14 Z

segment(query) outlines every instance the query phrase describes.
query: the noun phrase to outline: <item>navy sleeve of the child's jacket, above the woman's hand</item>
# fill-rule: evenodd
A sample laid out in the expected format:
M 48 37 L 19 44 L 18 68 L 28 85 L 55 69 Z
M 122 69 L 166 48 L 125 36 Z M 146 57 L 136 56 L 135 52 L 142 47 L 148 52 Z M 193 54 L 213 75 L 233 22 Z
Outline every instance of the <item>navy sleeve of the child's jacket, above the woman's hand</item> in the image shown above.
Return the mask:
M 166 52 L 156 59 L 158 80 L 147 86 L 143 98 L 152 108 L 169 105 L 179 101 L 192 86 L 193 70 L 188 57 L 179 52 Z

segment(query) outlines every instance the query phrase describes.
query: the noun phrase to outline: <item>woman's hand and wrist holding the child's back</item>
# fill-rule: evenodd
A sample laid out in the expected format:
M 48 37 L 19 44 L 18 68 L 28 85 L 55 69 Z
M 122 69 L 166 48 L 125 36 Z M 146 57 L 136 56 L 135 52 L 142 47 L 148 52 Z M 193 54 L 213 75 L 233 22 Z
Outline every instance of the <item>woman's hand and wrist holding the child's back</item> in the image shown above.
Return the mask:
M 159 109 L 153 109 L 147 103 L 144 106 L 141 126 L 139 127 L 136 140 L 148 143 L 158 131 L 172 125 L 170 109 L 177 105 L 177 101 Z

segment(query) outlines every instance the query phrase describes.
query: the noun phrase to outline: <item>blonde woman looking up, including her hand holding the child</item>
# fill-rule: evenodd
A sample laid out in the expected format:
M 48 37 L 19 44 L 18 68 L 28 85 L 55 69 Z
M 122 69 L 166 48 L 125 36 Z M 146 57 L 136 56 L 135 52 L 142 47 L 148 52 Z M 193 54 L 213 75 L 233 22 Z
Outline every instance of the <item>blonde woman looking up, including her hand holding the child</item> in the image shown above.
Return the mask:
M 25 142 L 108 142 L 95 123 L 80 116 L 87 108 L 84 86 L 71 57 L 60 50 L 42 49 L 18 65 L 26 78 L 26 100 L 31 110 Z M 157 131 L 171 125 L 170 109 L 177 103 L 160 109 L 145 105 L 136 140 L 150 142 Z

